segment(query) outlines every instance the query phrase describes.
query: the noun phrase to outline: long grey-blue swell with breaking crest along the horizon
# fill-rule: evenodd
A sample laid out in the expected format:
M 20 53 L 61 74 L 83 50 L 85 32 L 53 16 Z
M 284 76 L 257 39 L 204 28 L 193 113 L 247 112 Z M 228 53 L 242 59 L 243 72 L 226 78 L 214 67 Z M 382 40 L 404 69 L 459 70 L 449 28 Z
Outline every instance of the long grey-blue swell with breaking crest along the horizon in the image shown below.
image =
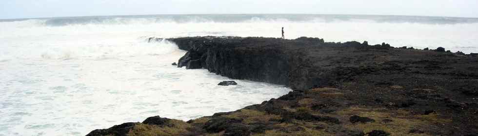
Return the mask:
M 31 19 L 0 19 L 0 22 L 25 21 Z M 380 16 L 380 15 L 303 15 L 303 14 L 215 14 L 215 15 L 142 15 L 142 16 L 91 16 L 60 17 L 42 20 L 46 26 L 75 24 L 151 24 L 151 23 L 241 23 L 261 21 L 287 22 L 340 22 L 373 21 L 378 23 L 425 23 L 457 24 L 477 23 L 476 18 L 423 17 L 423 16 Z

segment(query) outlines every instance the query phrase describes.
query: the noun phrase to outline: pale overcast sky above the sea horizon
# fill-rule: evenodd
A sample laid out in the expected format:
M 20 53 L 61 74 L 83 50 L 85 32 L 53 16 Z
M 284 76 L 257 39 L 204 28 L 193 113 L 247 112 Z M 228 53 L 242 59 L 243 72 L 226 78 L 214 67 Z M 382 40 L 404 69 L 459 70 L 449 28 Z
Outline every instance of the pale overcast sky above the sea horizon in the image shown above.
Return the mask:
M 0 19 L 250 13 L 478 18 L 478 0 L 2 0 L 0 2 Z

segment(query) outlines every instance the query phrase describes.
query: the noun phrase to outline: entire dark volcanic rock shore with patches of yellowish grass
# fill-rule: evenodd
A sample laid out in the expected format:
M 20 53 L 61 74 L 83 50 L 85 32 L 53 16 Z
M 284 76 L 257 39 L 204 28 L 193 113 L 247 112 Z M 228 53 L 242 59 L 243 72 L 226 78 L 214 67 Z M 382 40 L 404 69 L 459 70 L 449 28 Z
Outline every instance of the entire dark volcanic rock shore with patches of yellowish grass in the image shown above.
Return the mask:
M 161 40 L 150 38 L 149 41 Z M 478 57 L 318 38 L 167 39 L 178 67 L 282 84 L 287 95 L 183 122 L 149 117 L 87 136 L 476 136 Z

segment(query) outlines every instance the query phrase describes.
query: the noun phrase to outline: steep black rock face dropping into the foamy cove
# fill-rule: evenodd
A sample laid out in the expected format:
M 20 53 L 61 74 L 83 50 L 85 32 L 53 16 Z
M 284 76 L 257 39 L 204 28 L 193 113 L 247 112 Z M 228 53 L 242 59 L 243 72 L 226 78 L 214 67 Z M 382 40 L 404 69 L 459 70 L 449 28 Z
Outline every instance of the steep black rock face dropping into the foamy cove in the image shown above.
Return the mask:
M 188 52 L 179 59 L 178 67 L 205 68 L 233 79 L 249 79 L 306 90 L 325 85 L 335 78 L 334 71 L 310 69 L 303 46 L 365 48 L 367 42 L 324 42 L 301 37 L 295 40 L 274 38 L 196 37 L 169 39 Z M 384 44 L 379 48 L 390 48 Z M 318 75 L 321 75 L 319 78 Z M 312 78 L 314 77 L 314 78 Z

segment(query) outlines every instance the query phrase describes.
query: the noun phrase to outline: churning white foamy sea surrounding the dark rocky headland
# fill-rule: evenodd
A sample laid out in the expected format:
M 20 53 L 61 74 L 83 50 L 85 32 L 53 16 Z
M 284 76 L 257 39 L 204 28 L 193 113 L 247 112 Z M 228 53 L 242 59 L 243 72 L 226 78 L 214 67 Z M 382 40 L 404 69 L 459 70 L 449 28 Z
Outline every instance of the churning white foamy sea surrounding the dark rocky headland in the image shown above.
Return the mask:
M 478 53 L 478 19 L 365 15 L 147 15 L 0 19 L 0 136 L 84 136 L 161 116 L 235 111 L 292 91 L 177 62 L 149 37 L 318 37 Z

